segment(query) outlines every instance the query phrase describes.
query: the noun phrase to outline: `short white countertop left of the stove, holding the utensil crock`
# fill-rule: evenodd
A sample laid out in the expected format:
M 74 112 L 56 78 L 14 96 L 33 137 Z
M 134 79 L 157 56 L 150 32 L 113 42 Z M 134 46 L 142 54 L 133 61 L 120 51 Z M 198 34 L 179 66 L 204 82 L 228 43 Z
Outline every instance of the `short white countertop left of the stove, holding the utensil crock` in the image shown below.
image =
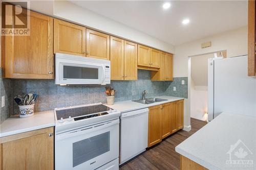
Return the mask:
M 37 112 L 31 117 L 19 118 L 15 115 L 6 119 L 0 126 L 0 137 L 55 126 L 53 110 Z

